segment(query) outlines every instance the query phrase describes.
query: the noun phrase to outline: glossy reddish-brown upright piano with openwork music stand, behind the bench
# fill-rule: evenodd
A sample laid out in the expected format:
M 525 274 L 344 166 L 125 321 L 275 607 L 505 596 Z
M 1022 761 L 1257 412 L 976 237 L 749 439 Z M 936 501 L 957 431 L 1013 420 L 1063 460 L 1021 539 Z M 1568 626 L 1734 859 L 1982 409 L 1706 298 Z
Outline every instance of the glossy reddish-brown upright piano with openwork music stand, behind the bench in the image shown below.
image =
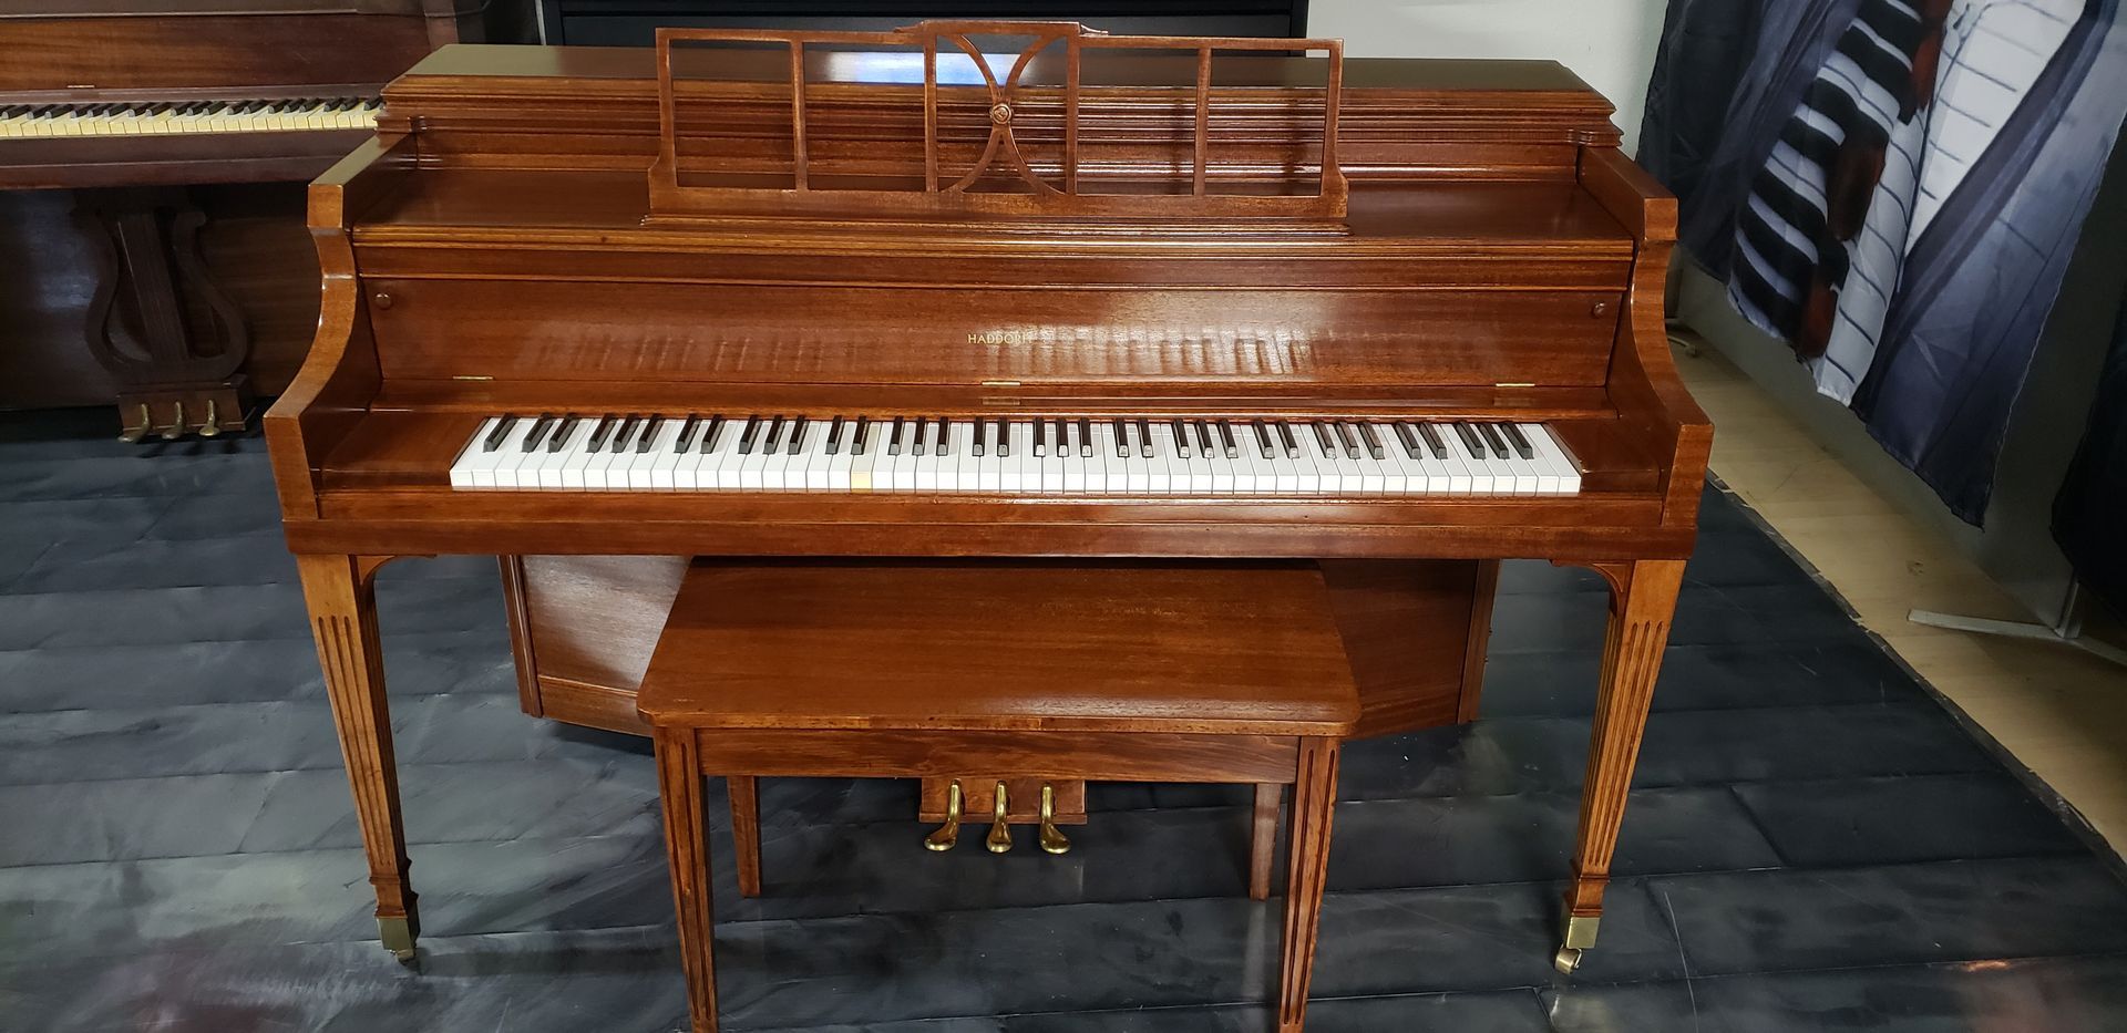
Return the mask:
M 313 185 L 266 417 L 385 944 L 393 557 L 500 555 L 527 710 L 606 727 L 693 555 L 1319 559 L 1446 587 L 1476 663 L 1538 557 L 1610 587 L 1570 967 L 1712 440 L 1608 113 L 1548 62 L 1064 23 L 421 62 Z M 1472 716 L 1395 704 L 1361 733 Z

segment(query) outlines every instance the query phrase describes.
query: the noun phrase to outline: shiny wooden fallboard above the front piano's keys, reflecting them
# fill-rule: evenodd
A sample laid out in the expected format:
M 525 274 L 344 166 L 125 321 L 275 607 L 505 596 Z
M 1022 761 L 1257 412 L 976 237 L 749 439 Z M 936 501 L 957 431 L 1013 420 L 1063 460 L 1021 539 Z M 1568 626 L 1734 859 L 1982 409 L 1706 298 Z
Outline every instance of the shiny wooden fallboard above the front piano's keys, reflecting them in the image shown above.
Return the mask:
M 855 274 L 855 272 L 853 272 Z M 1602 385 L 1619 291 L 366 278 L 385 380 Z

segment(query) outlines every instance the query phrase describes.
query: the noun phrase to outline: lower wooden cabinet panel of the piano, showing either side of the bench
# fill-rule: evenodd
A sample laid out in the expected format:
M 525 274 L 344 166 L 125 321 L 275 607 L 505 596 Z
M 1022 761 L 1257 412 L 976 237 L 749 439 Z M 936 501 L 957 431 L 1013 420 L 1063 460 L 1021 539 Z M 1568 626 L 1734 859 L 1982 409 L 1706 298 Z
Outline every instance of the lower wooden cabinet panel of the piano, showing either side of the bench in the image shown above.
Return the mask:
M 647 735 L 636 689 L 689 557 L 502 557 L 527 714 Z M 1476 716 L 1495 561 L 1323 561 L 1359 735 Z

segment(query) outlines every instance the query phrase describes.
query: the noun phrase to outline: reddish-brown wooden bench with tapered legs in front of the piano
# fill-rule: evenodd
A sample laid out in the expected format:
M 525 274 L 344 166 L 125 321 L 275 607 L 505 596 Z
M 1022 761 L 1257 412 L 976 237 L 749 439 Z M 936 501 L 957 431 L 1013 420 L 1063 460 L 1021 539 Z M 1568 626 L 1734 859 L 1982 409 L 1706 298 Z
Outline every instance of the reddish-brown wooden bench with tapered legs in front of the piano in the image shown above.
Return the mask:
M 1338 742 L 1359 721 L 1314 563 L 698 559 L 636 706 L 657 748 L 698 1033 L 717 1029 L 704 776 L 732 780 L 734 818 L 751 825 L 757 776 L 966 772 L 1253 784 L 1259 850 L 1293 786 L 1278 1029 L 1302 1024 Z M 955 840 L 949 818 L 927 846 Z M 1040 840 L 1064 848 L 1051 823 Z M 755 844 L 740 837 L 749 891 Z M 989 846 L 1008 850 L 1010 829 L 993 825 Z

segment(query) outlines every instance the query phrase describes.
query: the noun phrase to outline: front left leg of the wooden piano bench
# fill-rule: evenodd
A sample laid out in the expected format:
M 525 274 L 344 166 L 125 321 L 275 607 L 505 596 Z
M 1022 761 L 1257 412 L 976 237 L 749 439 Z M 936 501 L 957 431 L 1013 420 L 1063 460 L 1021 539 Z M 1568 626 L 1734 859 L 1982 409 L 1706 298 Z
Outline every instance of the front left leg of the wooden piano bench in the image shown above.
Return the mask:
M 664 801 L 666 863 L 679 908 L 679 959 L 687 973 L 693 1033 L 717 1033 L 717 939 L 710 916 L 708 842 L 702 827 L 702 757 L 693 729 L 655 729 L 657 799 Z

